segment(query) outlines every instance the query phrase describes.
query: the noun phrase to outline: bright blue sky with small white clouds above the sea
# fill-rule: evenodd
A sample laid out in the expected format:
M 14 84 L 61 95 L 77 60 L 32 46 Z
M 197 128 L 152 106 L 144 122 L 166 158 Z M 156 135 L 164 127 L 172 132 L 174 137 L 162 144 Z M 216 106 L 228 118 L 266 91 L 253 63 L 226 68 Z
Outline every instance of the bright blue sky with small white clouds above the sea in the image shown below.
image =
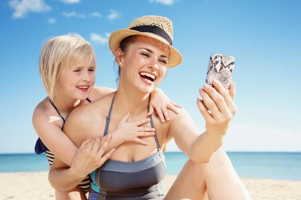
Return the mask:
M 173 20 L 173 44 L 184 61 L 168 70 L 159 87 L 201 131 L 205 121 L 196 98 L 209 56 L 233 55 L 238 112 L 224 148 L 301 151 L 300 9 L 299 0 L 3 0 L 0 153 L 34 152 L 32 113 L 47 95 L 38 68 L 45 38 L 81 34 L 96 52 L 96 85 L 116 88 L 108 35 L 146 14 Z M 168 149 L 177 147 L 171 143 Z

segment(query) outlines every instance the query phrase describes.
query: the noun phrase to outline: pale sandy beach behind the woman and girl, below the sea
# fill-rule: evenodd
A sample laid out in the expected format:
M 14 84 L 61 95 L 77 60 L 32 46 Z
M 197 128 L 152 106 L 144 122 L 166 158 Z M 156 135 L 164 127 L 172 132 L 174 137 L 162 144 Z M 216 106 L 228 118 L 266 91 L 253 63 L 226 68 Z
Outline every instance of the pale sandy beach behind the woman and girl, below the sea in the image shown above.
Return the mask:
M 48 172 L 0 173 L 0 199 L 14 200 L 54 200 L 54 190 L 47 179 Z M 176 179 L 167 175 L 163 180 L 167 192 Z M 301 199 L 301 181 L 242 179 L 253 200 L 293 200 Z

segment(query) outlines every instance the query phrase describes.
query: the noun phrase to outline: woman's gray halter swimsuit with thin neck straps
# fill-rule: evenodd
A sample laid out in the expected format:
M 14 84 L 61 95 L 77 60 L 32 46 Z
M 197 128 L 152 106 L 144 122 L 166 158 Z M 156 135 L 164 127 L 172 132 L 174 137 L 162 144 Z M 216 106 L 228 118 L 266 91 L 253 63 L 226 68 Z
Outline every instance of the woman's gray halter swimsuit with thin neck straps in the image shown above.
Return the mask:
M 104 136 L 107 134 L 111 107 L 106 118 Z M 154 127 L 153 118 L 149 116 Z M 163 199 L 161 181 L 166 174 L 165 156 L 155 134 L 158 151 L 134 162 L 108 159 L 101 167 L 90 173 L 91 193 L 89 200 Z

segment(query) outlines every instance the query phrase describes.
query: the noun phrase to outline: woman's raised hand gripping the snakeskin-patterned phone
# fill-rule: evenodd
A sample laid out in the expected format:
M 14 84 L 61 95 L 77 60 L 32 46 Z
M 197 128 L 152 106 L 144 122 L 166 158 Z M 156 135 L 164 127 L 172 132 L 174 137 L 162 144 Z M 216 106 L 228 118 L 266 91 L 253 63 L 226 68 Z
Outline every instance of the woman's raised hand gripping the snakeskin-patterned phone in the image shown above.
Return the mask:
M 237 111 L 234 103 L 235 82 L 231 82 L 229 91 L 217 80 L 213 81 L 213 86 L 204 84 L 204 87 L 200 88 L 203 102 L 198 98 L 197 104 L 206 121 L 206 134 L 215 140 L 222 140 Z

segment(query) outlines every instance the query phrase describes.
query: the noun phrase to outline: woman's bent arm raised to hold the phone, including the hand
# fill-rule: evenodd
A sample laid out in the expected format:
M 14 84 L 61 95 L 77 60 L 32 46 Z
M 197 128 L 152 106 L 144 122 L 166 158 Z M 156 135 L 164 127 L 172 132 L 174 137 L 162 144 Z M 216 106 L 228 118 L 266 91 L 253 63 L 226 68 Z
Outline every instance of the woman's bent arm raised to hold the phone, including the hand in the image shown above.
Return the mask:
M 192 117 L 182 109 L 171 122 L 169 136 L 175 138 L 178 147 L 196 162 L 209 162 L 223 144 L 229 123 L 237 108 L 234 104 L 235 85 L 231 83 L 229 92 L 219 83 L 214 88 L 205 86 L 200 91 L 203 101 L 198 99 L 198 106 L 206 121 L 206 131 L 202 134 L 195 127 Z

